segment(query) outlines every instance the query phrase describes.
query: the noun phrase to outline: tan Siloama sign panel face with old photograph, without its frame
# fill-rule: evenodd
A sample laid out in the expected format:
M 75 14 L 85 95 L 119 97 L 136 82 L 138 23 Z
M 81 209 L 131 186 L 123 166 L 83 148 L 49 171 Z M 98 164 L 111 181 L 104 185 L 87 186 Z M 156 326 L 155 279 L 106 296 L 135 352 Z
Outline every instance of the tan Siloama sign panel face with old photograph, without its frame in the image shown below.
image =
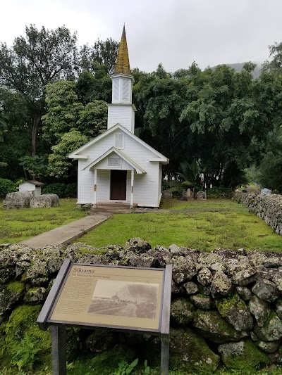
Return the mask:
M 47 322 L 159 329 L 164 270 L 72 265 Z

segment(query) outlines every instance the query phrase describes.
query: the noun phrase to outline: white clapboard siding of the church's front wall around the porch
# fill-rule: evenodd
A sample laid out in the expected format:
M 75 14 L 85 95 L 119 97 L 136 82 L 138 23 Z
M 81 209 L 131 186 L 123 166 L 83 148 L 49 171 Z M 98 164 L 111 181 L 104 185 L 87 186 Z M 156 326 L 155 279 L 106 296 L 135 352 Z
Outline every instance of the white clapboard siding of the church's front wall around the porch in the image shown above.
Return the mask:
M 133 203 L 140 207 L 158 207 L 161 197 L 161 165 L 157 161 L 150 162 L 150 159 L 156 160 L 157 155 L 147 147 L 140 144 L 132 137 L 117 129 L 113 134 L 105 136 L 96 144 L 88 147 L 82 154 L 87 155 L 87 159 L 79 160 L 78 167 L 78 203 L 93 203 L 94 201 L 94 168 L 97 169 L 97 203 L 110 201 L 110 176 L 111 169 L 128 170 L 126 200 L 130 203 L 131 198 L 131 170 L 133 167 L 126 160 L 121 160 L 121 167 L 109 167 L 108 157 L 116 155 L 111 153 L 94 165 L 90 170 L 88 168 L 94 160 L 104 155 L 111 147 L 116 147 L 116 134 L 123 134 L 122 151 L 128 158 L 134 160 L 145 174 L 134 172 Z

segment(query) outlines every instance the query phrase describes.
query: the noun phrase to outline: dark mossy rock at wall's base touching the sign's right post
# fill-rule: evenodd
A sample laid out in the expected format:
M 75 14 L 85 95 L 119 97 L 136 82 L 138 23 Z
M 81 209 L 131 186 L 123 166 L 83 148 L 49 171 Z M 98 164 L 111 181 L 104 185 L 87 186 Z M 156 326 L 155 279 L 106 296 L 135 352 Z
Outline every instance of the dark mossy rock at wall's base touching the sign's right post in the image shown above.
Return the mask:
M 219 356 L 192 329 L 171 329 L 169 366 L 187 374 L 212 374 Z

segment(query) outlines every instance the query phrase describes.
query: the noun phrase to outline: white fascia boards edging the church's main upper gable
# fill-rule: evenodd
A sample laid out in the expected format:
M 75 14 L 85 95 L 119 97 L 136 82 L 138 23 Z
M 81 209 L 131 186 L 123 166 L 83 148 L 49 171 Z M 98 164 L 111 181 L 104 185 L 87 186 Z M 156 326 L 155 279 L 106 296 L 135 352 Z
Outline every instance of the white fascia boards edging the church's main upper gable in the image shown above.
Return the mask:
M 73 159 L 78 159 L 78 154 L 87 150 L 88 147 L 91 147 L 92 145 L 96 144 L 97 142 L 101 141 L 101 139 L 103 139 L 105 136 L 108 136 L 109 134 L 111 134 L 112 132 L 115 132 L 116 129 L 120 129 L 122 132 L 124 132 L 125 134 L 127 134 L 128 136 L 130 136 L 132 139 L 135 139 L 135 141 L 137 141 L 138 143 L 142 144 L 142 146 L 144 146 L 145 148 L 147 148 L 149 151 L 152 151 L 152 153 L 154 153 L 155 155 L 157 155 L 158 158 L 161 158 L 161 160 L 159 160 L 160 162 L 166 162 L 166 164 L 168 164 L 168 158 L 166 158 L 166 156 L 162 155 L 161 153 L 159 153 L 159 151 L 155 150 L 154 148 L 152 148 L 151 146 L 149 146 L 149 144 L 147 144 L 145 141 L 142 141 L 140 138 L 138 138 L 137 136 L 135 136 L 135 134 L 131 133 L 128 129 L 125 129 L 125 127 L 121 126 L 121 124 L 116 124 L 114 125 L 113 127 L 111 127 L 110 129 L 106 130 L 106 132 L 100 134 L 99 136 L 97 136 L 96 138 L 92 139 L 92 141 L 89 141 L 87 144 L 85 144 L 84 146 L 81 146 L 80 148 L 78 148 L 77 150 L 73 151 L 73 153 L 71 153 L 70 155 L 68 155 L 68 158 L 73 158 Z

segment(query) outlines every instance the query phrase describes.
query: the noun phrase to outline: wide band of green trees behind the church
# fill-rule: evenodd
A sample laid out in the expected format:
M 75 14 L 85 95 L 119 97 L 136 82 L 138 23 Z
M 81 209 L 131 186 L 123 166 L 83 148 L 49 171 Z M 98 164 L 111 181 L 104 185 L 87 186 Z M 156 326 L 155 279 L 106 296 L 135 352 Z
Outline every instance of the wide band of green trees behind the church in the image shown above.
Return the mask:
M 255 165 L 265 187 L 282 189 L 282 42 L 255 64 L 177 72 L 132 70 L 135 134 L 170 159 L 167 179 L 206 189 L 243 184 Z M 26 27 L 0 44 L 0 177 L 75 181 L 68 154 L 106 129 L 118 42 L 78 48 L 66 27 Z

